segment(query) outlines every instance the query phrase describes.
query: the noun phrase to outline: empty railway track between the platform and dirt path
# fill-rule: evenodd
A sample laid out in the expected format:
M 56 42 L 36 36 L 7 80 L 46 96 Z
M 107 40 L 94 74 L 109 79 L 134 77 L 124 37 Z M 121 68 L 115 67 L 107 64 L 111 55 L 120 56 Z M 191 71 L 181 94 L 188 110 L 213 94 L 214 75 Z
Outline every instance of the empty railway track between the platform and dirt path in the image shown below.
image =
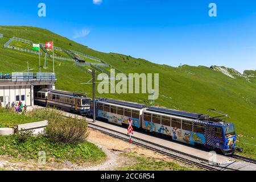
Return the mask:
M 111 137 L 124 140 L 125 142 L 129 142 L 129 136 L 127 136 L 123 133 L 119 133 L 118 131 L 113 131 L 113 130 L 107 129 L 105 127 L 93 125 L 93 123 L 90 123 L 90 122 L 88 123 L 88 126 L 94 130 L 101 131 L 101 133 L 110 135 Z M 193 166 L 199 167 L 199 168 L 207 170 L 207 171 L 221 171 L 223 169 L 234 170 L 232 168 L 213 166 L 213 165 L 210 165 L 209 163 L 204 162 L 202 160 L 191 158 L 189 156 L 185 156 L 184 154 L 178 154 L 177 152 L 167 150 L 167 148 L 164 148 L 162 146 L 156 146 L 155 144 L 146 142 L 146 141 L 138 139 L 138 138 L 133 138 L 133 144 L 136 144 L 138 146 L 142 146 L 142 147 L 148 148 L 150 150 L 159 152 L 160 154 L 170 156 L 171 158 L 173 158 L 175 160 L 179 160 L 180 162 L 183 162 L 185 164 L 193 165 Z

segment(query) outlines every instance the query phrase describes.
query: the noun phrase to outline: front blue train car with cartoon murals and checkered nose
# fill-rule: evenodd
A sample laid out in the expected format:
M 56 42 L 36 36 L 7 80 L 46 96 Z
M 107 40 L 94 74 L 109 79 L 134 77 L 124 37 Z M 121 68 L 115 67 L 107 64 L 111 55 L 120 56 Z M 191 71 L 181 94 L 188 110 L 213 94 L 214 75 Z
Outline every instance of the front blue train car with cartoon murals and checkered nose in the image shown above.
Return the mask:
M 234 153 L 236 130 L 232 123 L 211 119 L 209 115 L 148 107 L 143 111 L 142 128 L 169 135 L 172 140 L 204 146 L 222 154 Z

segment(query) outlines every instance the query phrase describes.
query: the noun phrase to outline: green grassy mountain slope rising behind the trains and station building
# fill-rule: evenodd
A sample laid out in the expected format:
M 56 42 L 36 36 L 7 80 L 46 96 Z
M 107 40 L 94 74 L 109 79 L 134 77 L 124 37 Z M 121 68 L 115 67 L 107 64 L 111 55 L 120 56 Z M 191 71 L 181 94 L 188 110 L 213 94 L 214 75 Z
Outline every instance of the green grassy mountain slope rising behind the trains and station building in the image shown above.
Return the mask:
M 57 47 L 73 49 L 98 57 L 126 73 L 159 73 L 160 96 L 155 102 L 156 105 L 197 113 L 206 113 L 206 109 L 216 108 L 228 113 L 232 117 L 229 121 L 236 124 L 237 132 L 240 134 L 238 146 L 244 147 L 247 155 L 256 158 L 256 147 L 245 144 L 256 143 L 255 78 L 248 82 L 245 78 L 230 78 L 207 67 L 184 65 L 180 68 L 173 68 L 116 53 L 102 53 L 41 28 L 0 26 L 0 33 L 4 34 L 4 38 L 0 39 L 0 45 L 13 36 L 33 42 L 46 42 L 54 39 Z M 36 55 L 0 47 L 0 72 L 26 71 L 27 60 L 30 61 L 30 68 L 34 68 L 34 72 L 38 70 Z M 48 63 L 47 71 L 51 71 L 52 61 L 48 60 Z M 89 81 L 90 75 L 75 67 L 72 62 L 56 60 L 55 63 L 57 89 L 84 90 L 90 96 L 92 95 L 91 85 L 80 84 Z M 148 94 L 104 94 L 102 96 L 148 103 Z

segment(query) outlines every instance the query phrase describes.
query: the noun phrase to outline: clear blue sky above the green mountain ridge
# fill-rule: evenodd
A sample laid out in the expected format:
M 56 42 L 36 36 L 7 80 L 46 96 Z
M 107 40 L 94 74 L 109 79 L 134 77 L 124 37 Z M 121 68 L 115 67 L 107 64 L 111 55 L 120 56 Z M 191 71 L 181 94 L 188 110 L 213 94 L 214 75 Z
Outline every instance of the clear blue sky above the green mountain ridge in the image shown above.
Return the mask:
M 46 17 L 38 16 L 40 2 Z M 208 15 L 210 2 L 217 17 Z M 1 2 L 0 24 L 47 28 L 159 64 L 256 69 L 255 0 L 13 0 Z

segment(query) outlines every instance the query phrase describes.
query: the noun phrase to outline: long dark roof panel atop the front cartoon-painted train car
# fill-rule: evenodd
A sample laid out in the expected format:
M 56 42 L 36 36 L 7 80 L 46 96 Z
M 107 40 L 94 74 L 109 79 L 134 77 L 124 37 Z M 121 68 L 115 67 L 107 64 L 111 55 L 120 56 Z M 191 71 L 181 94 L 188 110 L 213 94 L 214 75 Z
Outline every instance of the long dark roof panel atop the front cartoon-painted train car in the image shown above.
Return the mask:
M 200 116 L 203 115 L 203 114 L 198 114 L 198 113 L 191 113 L 188 111 L 167 109 L 166 107 L 158 107 L 158 106 L 150 106 L 150 107 L 148 107 L 148 110 L 158 111 L 160 113 L 166 113 L 166 114 L 174 114 L 174 115 L 179 115 L 179 116 L 193 118 L 193 119 L 199 119 Z

